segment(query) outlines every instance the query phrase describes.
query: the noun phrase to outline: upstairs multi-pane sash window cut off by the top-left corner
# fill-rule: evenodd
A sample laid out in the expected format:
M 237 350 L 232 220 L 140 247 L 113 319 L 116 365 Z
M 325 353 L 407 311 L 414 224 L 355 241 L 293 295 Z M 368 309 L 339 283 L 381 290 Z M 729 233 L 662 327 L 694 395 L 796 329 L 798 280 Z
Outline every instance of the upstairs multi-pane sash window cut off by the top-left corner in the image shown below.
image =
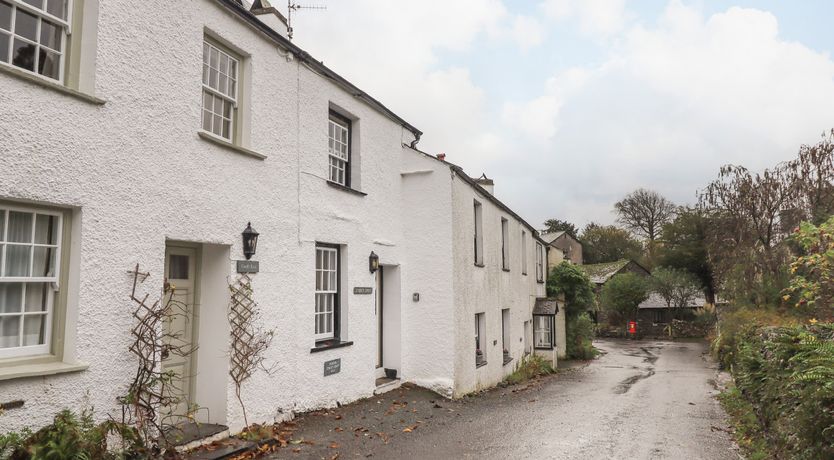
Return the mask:
M 64 80 L 67 0 L 0 0 L 0 62 Z

